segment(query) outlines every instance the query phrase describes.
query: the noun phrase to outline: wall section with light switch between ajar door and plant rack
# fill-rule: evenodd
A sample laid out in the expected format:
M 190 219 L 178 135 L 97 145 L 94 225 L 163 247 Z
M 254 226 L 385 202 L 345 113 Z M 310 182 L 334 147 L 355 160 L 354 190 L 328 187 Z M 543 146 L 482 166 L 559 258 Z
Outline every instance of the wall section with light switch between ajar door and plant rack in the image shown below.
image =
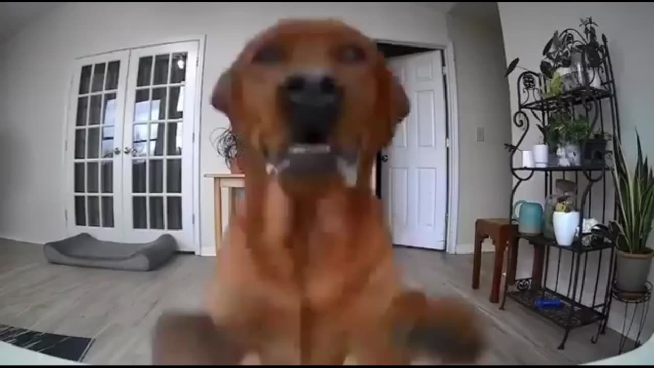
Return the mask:
M 472 251 L 475 219 L 506 217 L 511 172 L 504 143 L 511 139 L 509 86 L 502 30 L 447 17 L 454 44 L 459 121 L 457 253 Z M 477 128 L 484 141 L 477 141 Z M 492 248 L 492 247 L 491 247 Z

